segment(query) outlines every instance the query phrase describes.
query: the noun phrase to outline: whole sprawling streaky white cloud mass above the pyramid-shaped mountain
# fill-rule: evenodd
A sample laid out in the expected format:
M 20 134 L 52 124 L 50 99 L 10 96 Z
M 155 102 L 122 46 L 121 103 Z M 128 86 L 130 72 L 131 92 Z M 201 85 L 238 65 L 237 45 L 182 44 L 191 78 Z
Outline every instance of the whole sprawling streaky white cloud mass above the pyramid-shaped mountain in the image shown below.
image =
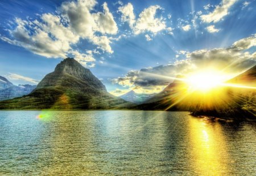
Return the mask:
M 0 38 L 47 58 L 65 58 L 73 54 L 81 63 L 94 62 L 95 59 L 89 59 L 92 54 L 74 51 L 75 44 L 88 40 L 97 49 L 113 53 L 108 35 L 118 32 L 107 3 L 103 3 L 102 12 L 94 9 L 96 4 L 94 0 L 63 2 L 55 15 L 42 14 L 35 20 L 16 18 L 14 23 L 10 23 L 10 36 Z

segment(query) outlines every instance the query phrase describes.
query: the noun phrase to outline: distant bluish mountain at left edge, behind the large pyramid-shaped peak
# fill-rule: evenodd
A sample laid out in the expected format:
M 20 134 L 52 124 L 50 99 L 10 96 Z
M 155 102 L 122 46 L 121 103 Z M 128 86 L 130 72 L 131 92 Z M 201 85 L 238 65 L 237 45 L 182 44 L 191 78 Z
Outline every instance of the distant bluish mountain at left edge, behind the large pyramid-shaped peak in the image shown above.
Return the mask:
M 0 101 L 2 101 L 28 95 L 28 93 L 36 88 L 36 85 L 25 84 L 16 86 L 6 78 L 0 76 L 0 87 Z

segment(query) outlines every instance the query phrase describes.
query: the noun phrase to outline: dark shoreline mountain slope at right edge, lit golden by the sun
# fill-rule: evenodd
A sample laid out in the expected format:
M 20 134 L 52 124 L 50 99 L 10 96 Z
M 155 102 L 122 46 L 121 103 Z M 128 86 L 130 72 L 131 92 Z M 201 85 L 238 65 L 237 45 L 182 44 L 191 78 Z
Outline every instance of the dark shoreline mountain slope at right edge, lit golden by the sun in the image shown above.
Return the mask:
M 226 81 L 234 87 L 223 88 L 226 91 L 225 105 L 218 105 L 214 109 L 193 109 L 193 115 L 208 115 L 235 119 L 256 119 L 256 66 Z M 236 87 L 244 85 L 250 88 Z

